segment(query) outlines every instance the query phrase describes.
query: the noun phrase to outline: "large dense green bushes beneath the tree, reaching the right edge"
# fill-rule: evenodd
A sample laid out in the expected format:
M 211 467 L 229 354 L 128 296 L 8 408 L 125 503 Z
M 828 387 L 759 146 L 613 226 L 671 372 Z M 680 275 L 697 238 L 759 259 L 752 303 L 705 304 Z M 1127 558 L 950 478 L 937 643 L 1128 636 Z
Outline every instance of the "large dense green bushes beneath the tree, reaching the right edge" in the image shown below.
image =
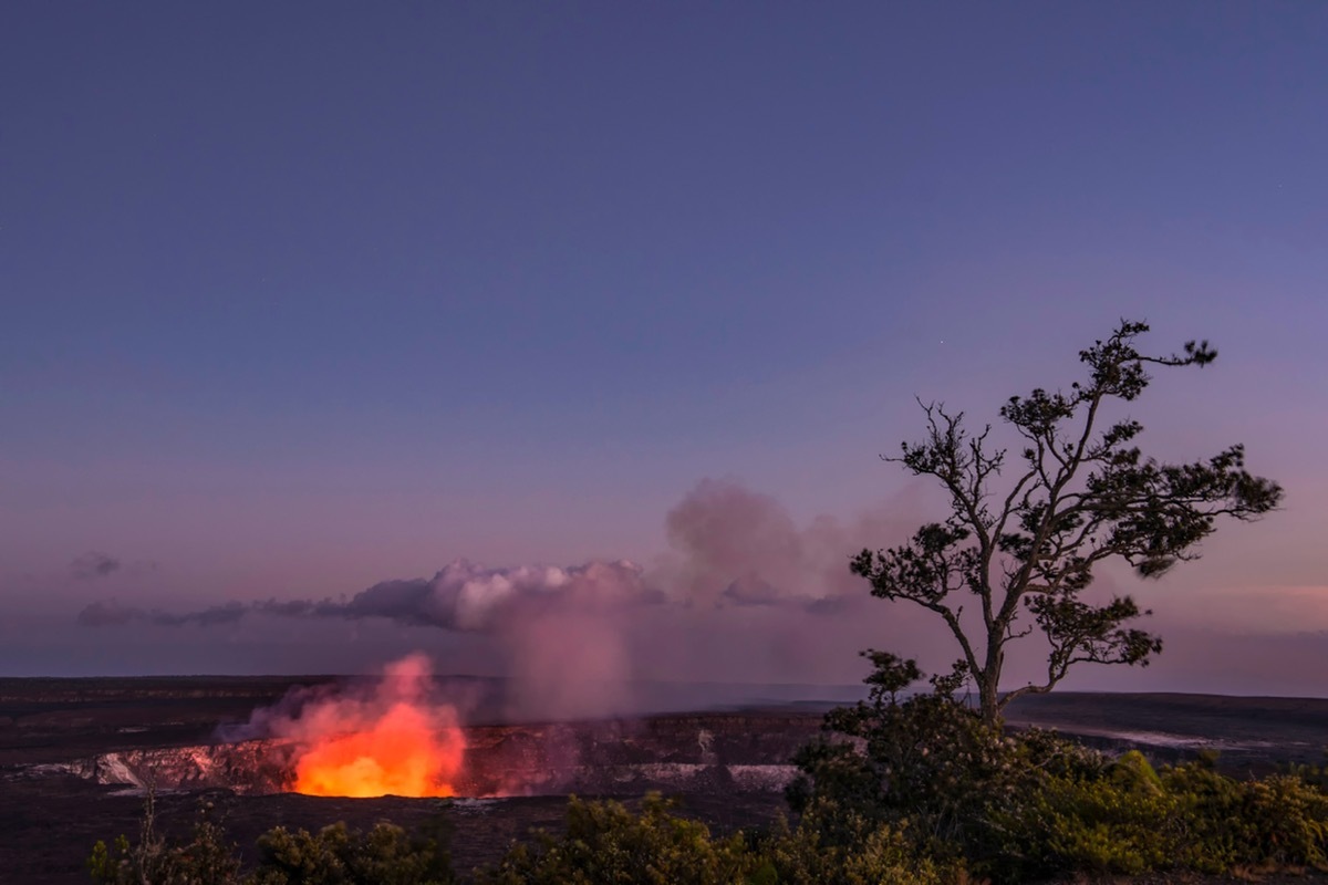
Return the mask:
M 1328 866 L 1328 795 L 1296 774 L 1236 780 L 1212 756 L 1155 770 L 1031 728 L 1007 735 L 955 698 L 963 666 L 903 697 L 912 661 L 866 653 L 870 699 L 826 716 L 797 756 L 797 833 L 834 869 L 876 844 L 996 881 L 1070 872 Z M 1307 768 L 1311 774 L 1319 770 Z

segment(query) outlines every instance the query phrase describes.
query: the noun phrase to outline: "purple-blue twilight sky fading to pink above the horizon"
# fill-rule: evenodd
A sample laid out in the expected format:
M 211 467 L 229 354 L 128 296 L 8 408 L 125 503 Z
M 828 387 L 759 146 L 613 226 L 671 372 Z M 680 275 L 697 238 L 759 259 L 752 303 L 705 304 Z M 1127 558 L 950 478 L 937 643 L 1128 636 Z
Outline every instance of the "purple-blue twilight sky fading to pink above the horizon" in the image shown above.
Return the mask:
M 1146 448 L 1244 442 L 1287 500 L 1108 575 L 1169 649 L 1070 685 L 1325 694 L 1324 46 L 1275 1 L 3 4 L 0 674 L 587 646 L 121 617 L 457 559 L 691 594 L 615 610 L 632 675 L 943 666 L 843 580 L 940 515 L 876 455 L 915 395 L 995 421 L 1130 317 L 1222 354 L 1135 403 Z

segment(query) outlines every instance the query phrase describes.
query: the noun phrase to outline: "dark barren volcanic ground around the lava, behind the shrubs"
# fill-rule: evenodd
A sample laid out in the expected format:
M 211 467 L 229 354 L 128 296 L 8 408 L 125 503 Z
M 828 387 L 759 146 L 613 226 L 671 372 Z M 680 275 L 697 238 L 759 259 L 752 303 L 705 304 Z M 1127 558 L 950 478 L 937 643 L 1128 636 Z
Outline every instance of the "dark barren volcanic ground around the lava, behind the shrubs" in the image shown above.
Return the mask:
M 466 728 L 462 799 L 315 797 L 283 792 L 290 747 L 220 742 L 296 685 L 325 677 L 0 679 L 0 882 L 85 882 L 98 839 L 137 833 L 142 788 L 155 784 L 166 829 L 183 832 L 201 797 L 220 805 L 244 851 L 275 827 L 345 820 L 402 825 L 442 816 L 458 870 L 495 860 L 531 828 L 556 829 L 566 793 L 680 796 L 687 812 L 725 831 L 784 809 L 793 751 L 819 731 L 826 705 L 671 713 L 578 723 Z M 1234 774 L 1278 762 L 1321 762 L 1328 701 L 1216 695 L 1053 694 L 1024 698 L 1013 726 L 1041 724 L 1161 760 L 1202 748 Z M 491 797 L 501 793 L 502 797 Z

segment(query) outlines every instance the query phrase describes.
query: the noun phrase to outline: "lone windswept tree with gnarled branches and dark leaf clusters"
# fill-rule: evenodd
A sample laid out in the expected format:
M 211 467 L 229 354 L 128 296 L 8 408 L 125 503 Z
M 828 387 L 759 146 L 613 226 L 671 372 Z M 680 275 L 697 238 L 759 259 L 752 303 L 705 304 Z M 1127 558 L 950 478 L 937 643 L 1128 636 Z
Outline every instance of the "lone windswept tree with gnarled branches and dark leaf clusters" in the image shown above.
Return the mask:
M 1015 698 L 1050 691 L 1077 663 L 1146 666 L 1162 650 L 1159 638 L 1126 626 L 1141 614 L 1131 597 L 1086 598 L 1100 563 L 1125 560 L 1139 576 L 1158 577 L 1197 559 L 1218 517 L 1252 520 L 1282 499 L 1276 483 L 1246 471 L 1243 446 L 1165 464 L 1134 444 L 1139 422 L 1106 419 L 1112 401 L 1143 393 L 1149 368 L 1204 366 L 1218 356 L 1207 341 L 1145 356 L 1135 338 L 1147 330 L 1122 321 L 1080 352 L 1088 379 L 1068 393 L 1011 397 L 1000 417 L 1024 442 L 1004 487 L 1007 450 L 988 442 L 991 426 L 969 433 L 963 413 L 943 405 L 923 406 L 922 442 L 883 456 L 939 480 L 950 516 L 902 547 L 862 551 L 853 572 L 871 581 L 872 596 L 914 602 L 946 621 L 989 723 Z M 963 617 L 965 604 L 981 610 L 980 625 Z M 1005 646 L 1031 634 L 1049 645 L 1045 681 L 1001 694 Z

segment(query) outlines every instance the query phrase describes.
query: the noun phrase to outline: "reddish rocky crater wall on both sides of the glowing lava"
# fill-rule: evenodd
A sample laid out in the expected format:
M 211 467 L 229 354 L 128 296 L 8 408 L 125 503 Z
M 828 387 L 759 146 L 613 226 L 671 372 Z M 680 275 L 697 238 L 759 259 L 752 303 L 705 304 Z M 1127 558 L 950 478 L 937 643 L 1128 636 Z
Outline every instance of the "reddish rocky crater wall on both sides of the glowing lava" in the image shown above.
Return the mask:
M 688 714 L 643 719 L 462 728 L 450 793 L 470 797 L 777 792 L 789 759 L 818 731 L 805 714 Z M 223 788 L 242 796 L 300 792 L 300 744 L 279 739 L 134 747 L 62 763 L 98 784 Z

